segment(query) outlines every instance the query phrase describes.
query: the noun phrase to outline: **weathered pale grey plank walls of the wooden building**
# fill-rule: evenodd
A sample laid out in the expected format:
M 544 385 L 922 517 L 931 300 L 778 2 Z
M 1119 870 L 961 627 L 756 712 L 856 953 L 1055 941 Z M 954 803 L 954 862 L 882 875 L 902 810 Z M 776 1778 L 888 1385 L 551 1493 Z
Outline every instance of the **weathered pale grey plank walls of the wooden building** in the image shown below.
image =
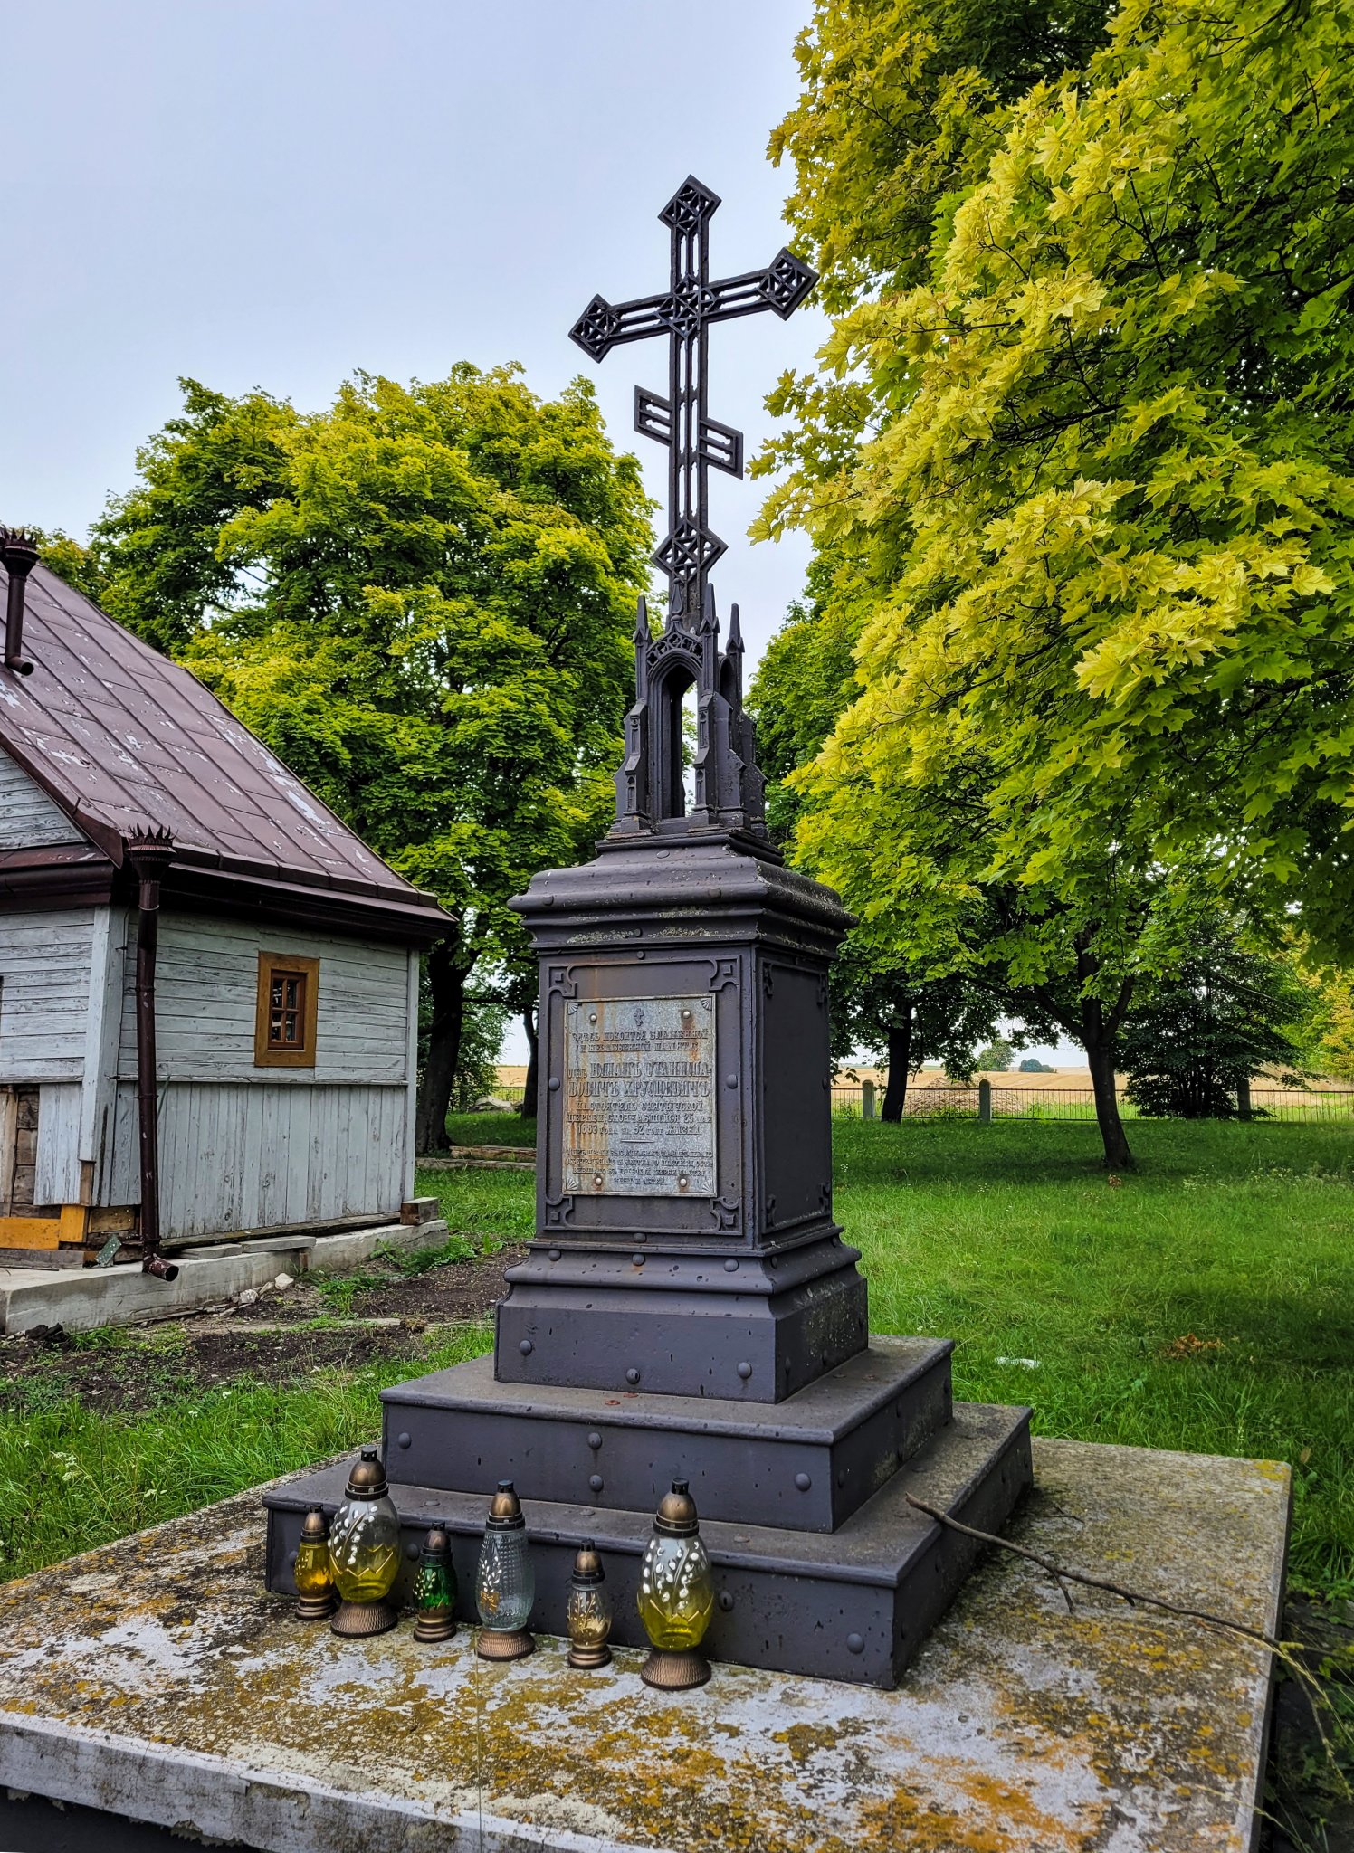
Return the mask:
M 319 958 L 313 1069 L 254 1067 L 260 951 Z M 134 915 L 0 914 L 0 1084 L 41 1082 L 35 1201 L 137 1203 Z M 417 1028 L 402 947 L 167 910 L 156 993 L 167 1236 L 397 1212 Z

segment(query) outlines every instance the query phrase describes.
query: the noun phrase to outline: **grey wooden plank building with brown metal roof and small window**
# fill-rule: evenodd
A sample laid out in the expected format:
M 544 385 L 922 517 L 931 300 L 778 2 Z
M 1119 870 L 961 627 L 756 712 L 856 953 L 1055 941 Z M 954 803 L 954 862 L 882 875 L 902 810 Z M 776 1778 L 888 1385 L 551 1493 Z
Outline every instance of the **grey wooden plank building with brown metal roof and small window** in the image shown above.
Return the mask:
M 0 536 L 0 1251 L 135 1249 L 147 1034 L 163 1242 L 395 1219 L 419 952 L 454 923 L 187 669 L 35 560 Z

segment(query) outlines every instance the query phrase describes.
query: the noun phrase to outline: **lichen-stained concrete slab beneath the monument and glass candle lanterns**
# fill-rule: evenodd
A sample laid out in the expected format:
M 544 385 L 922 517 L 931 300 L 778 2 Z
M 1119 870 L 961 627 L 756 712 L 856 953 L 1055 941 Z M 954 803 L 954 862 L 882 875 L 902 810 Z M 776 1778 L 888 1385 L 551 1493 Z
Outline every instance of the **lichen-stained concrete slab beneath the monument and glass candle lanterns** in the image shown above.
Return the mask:
M 896 1692 L 345 1642 L 258 1492 L 0 1588 L 0 1784 L 267 1853 L 1243 1853 L 1269 1655 L 994 1553 Z M 1274 1631 L 1289 1473 L 1035 1442 L 1015 1542 Z M 150 1844 L 150 1842 L 147 1842 Z

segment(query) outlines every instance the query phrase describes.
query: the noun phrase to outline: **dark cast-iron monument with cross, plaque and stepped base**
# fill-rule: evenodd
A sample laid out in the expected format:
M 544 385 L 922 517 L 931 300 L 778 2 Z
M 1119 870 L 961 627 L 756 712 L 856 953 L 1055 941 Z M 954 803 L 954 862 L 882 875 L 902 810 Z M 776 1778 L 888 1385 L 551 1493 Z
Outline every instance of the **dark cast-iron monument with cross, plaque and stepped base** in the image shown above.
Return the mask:
M 573 328 L 595 359 L 670 341 L 668 397 L 636 393 L 636 428 L 670 448 L 668 621 L 655 637 L 640 602 L 597 860 L 516 902 L 542 967 L 529 1258 L 506 1275 L 492 1366 L 384 1392 L 384 1455 L 406 1555 L 436 1514 L 464 1603 L 486 1495 L 512 1477 L 536 1540 L 534 1627 L 564 1631 L 573 1553 L 594 1538 L 614 1638 L 634 1645 L 651 1512 L 686 1479 L 720 1582 L 712 1657 L 892 1684 L 976 1549 L 907 1494 L 996 1529 L 1029 1481 L 1028 1410 L 953 1406 L 948 1342 L 872 1342 L 833 1221 L 827 967 L 849 915 L 766 832 L 738 608 L 722 649 L 709 586 L 723 552 L 709 469 L 742 474 L 742 435 L 705 406 L 710 324 L 788 315 L 814 272 L 783 250 L 710 282 L 718 204 L 686 180 L 660 213 L 668 289 L 594 296 Z M 341 1486 L 330 1469 L 267 1495 L 271 1588 L 291 1586 L 306 1505 L 332 1510 Z

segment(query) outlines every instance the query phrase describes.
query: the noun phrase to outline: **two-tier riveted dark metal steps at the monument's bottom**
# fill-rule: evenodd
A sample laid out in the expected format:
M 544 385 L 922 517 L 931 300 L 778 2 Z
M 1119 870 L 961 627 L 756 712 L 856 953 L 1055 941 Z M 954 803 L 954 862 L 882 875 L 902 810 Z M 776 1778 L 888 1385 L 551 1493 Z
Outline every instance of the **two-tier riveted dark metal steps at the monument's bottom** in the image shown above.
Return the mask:
M 453 1540 L 456 1614 L 469 1623 L 488 1497 L 510 1477 L 536 1562 L 532 1627 L 564 1632 L 573 1557 L 592 1538 L 616 1610 L 612 1640 L 642 1647 L 640 1558 L 658 1499 L 684 1477 L 716 1584 L 701 1651 L 894 1686 L 979 1549 L 907 1495 L 996 1531 L 1029 1484 L 1029 1412 L 952 1408 L 950 1347 L 926 1340 L 874 1340 L 775 1406 L 523 1393 L 495 1384 L 488 1366 L 479 1358 L 382 1393 L 382 1455 L 404 1542 L 397 1599 L 412 1592 L 417 1547 L 440 1525 Z M 271 1590 L 295 1588 L 306 1508 L 332 1516 L 343 1484 L 338 1466 L 265 1495 Z

